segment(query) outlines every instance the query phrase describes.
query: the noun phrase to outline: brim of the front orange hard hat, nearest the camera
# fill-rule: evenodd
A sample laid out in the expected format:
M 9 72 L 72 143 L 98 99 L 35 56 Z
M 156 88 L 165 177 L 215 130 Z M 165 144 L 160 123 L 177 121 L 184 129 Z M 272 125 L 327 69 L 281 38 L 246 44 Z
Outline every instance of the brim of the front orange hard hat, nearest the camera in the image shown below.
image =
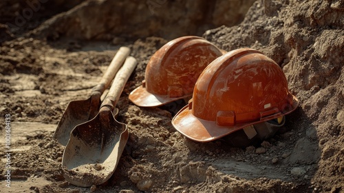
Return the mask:
M 294 111 L 299 105 L 299 101 L 293 96 L 293 104 L 287 112 L 283 112 L 280 116 L 289 114 Z M 277 118 L 277 117 L 276 117 Z M 264 120 L 268 121 L 268 120 Z M 180 112 L 175 114 L 172 119 L 173 127 L 187 138 L 198 142 L 209 142 L 219 139 L 223 136 L 231 134 L 237 130 L 245 128 L 255 123 L 264 121 L 250 121 L 247 123 L 237 123 L 233 126 L 219 126 L 216 121 L 207 121 L 197 118 L 189 110 L 189 105 L 186 105 Z

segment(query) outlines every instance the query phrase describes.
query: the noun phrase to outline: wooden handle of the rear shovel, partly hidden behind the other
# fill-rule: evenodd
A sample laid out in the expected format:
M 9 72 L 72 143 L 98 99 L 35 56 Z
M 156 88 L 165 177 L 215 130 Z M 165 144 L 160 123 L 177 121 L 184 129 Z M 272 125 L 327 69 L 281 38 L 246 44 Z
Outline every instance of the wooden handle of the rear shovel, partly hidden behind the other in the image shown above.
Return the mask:
M 130 48 L 120 47 L 114 59 L 112 59 L 109 67 L 104 73 L 102 79 L 100 80 L 100 83 L 94 87 L 94 92 L 100 92 L 100 94 L 102 94 L 105 89 L 109 87 L 111 81 L 114 79 L 116 73 L 125 62 L 125 59 L 129 56 L 129 54 Z

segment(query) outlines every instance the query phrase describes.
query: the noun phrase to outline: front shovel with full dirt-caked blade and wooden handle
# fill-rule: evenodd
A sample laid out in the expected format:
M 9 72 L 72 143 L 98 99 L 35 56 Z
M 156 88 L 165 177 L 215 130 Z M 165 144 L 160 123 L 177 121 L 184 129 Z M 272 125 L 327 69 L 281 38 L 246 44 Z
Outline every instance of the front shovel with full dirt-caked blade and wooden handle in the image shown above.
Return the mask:
M 116 115 L 116 103 L 136 63 L 133 57 L 127 58 L 96 117 L 72 130 L 62 159 L 63 176 L 69 183 L 89 187 L 105 183 L 114 174 L 129 133 L 113 111 Z

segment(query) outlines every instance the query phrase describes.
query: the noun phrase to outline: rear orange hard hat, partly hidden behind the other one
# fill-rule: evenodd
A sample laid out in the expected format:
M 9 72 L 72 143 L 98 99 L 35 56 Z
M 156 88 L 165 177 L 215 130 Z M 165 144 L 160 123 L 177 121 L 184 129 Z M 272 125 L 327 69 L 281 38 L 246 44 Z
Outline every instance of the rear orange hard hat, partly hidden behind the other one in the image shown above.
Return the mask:
M 173 39 L 153 54 L 142 85 L 129 94 L 129 100 L 142 107 L 156 107 L 192 96 L 195 83 L 206 66 L 222 50 L 195 36 Z

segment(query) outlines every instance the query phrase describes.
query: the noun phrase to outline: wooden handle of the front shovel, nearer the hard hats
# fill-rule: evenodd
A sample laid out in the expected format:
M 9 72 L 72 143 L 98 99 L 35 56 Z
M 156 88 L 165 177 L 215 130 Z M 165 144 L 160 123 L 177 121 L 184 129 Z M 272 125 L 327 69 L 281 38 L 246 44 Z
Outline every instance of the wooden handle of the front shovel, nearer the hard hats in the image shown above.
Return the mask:
M 104 99 L 100 109 L 104 106 L 109 106 L 111 111 L 114 110 L 118 99 L 120 99 L 120 94 L 125 88 L 125 83 L 127 83 L 131 73 L 136 68 L 137 61 L 134 57 L 127 57 L 122 68 L 117 72 L 114 82 L 111 85 L 106 98 Z

